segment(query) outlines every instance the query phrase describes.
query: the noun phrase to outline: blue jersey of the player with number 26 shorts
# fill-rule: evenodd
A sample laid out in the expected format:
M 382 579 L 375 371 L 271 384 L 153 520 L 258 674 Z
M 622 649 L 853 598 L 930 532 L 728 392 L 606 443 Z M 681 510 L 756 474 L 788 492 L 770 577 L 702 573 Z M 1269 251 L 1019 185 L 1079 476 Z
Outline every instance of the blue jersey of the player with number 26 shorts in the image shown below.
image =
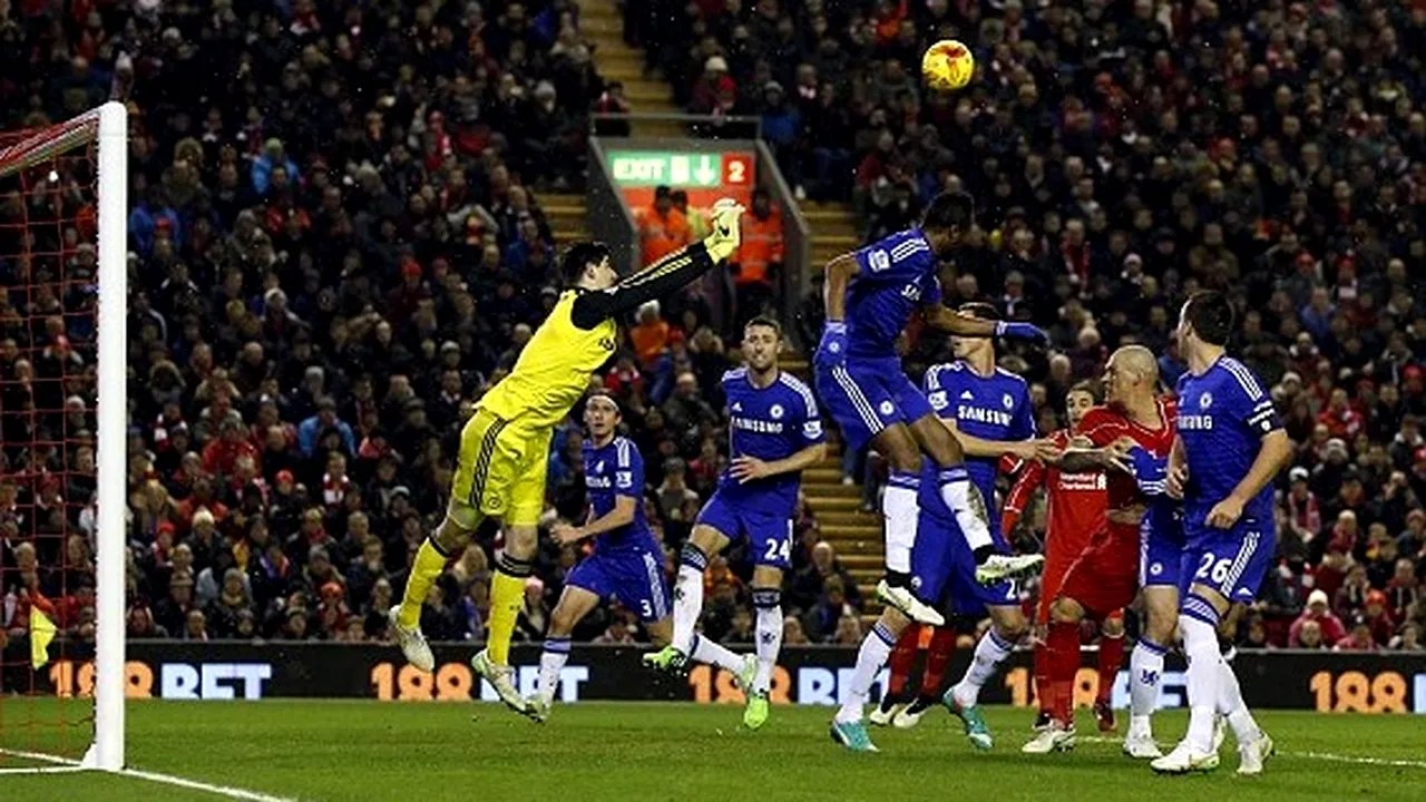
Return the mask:
M 1262 438 L 1282 428 L 1262 381 L 1238 360 L 1222 357 L 1202 375 L 1178 380 L 1178 435 L 1188 458 L 1184 525 L 1204 527 L 1208 511 L 1248 475 Z M 1272 527 L 1272 484 L 1248 504 L 1245 518 Z

